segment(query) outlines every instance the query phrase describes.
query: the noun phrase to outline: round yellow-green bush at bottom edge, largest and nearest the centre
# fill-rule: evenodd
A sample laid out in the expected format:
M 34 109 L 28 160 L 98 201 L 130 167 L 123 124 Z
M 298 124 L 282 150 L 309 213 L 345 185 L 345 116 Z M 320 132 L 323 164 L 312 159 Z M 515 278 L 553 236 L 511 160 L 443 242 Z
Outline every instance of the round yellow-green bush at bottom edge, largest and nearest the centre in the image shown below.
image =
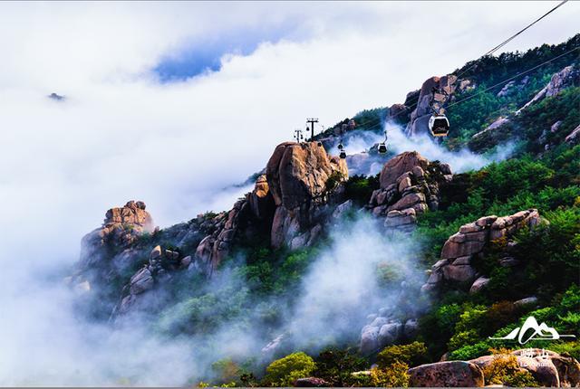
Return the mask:
M 315 368 L 314 360 L 303 352 L 290 354 L 266 367 L 264 382 L 269 386 L 292 386 L 296 379 L 312 375 Z

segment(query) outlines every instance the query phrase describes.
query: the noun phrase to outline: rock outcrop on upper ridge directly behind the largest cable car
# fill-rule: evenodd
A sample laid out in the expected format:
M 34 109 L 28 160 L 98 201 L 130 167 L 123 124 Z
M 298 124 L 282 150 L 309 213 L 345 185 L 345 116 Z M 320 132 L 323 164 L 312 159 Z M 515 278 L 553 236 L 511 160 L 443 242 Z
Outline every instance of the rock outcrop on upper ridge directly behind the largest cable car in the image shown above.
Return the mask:
M 423 82 L 420 88 L 419 98 L 417 100 L 417 107 L 411 112 L 411 118 L 407 124 L 405 132 L 408 136 L 416 136 L 429 131 L 429 118 L 431 116 L 430 101 L 431 90 L 436 88 L 444 90 L 451 96 L 456 89 L 457 77 L 454 75 L 447 75 L 443 77 L 431 77 L 429 80 Z M 443 106 L 449 98 L 444 94 L 435 94 L 436 104 Z

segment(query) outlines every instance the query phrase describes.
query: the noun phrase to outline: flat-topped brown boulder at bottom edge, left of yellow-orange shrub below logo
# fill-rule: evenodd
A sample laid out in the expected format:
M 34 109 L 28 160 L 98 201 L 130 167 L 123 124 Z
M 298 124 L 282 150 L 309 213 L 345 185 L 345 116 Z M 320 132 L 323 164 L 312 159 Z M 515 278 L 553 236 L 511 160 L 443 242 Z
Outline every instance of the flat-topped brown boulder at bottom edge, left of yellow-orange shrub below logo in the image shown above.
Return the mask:
M 409 369 L 409 386 L 411 387 L 481 387 L 483 385 L 483 371 L 471 362 L 437 362 Z

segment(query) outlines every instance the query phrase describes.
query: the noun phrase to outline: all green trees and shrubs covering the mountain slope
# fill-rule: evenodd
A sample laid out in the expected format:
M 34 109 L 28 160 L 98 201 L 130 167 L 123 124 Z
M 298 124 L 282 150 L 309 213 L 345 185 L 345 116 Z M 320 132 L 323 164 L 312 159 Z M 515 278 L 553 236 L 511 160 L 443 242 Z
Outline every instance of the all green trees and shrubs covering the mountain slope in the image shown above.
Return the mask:
M 482 152 L 511 141 L 516 154 L 478 171 L 455 175 L 451 183 L 441 185 L 440 209 L 420 214 L 413 232 L 412 238 L 420 242 L 420 265 L 428 269 L 440 259 L 442 245 L 462 224 L 484 215 L 503 216 L 536 208 L 547 222 L 533 229 L 521 229 L 513 237 L 514 242 L 510 242 L 509 253 L 520 263 L 517 269 L 500 266 L 507 242 L 498 240 L 473 260 L 478 273 L 490 278 L 486 288 L 474 294 L 443 290 L 420 318 L 418 336 L 405 340 L 408 344 L 387 346 L 377 355 L 361 356 L 354 351 L 355 340 L 342 347 L 326 348 L 314 358 L 314 354 L 295 352 L 269 365 L 269 360 L 260 362 L 264 365 L 245 365 L 227 357 L 214 363 L 212 375 L 203 377 L 204 382 L 199 385 L 285 386 L 292 385 L 297 378 L 315 376 L 333 386 L 404 387 L 409 384 L 409 367 L 439 361 L 444 355 L 449 360 L 469 360 L 488 355 L 497 347 L 519 346 L 488 337 L 507 335 L 521 327 L 530 315 L 561 333 L 580 337 L 580 146 L 563 142 L 565 135 L 580 123 L 580 87 L 568 88 L 513 115 L 515 109 L 546 85 L 555 71 L 577 60 L 568 56 L 530 73 L 525 81 L 518 78 L 505 96 L 498 97 L 503 85 L 483 92 L 498 81 L 578 44 L 580 35 L 558 46 L 544 45 L 525 53 L 504 53 L 478 60 L 478 66 L 467 73 L 476 87 L 460 94 L 459 99 L 476 94 L 477 97 L 449 109 L 453 125 L 444 145 L 450 149 L 469 145 Z M 387 111 L 380 108 L 359 112 L 353 118 L 356 128 L 376 130 L 376 124 L 385 118 Z M 499 116 L 508 117 L 510 123 L 493 133 L 472 138 Z M 334 128 L 349 121 L 344 119 Z M 561 121 L 560 128 L 551 132 L 550 127 L 556 121 Z M 333 128 L 329 128 L 315 138 L 332 132 Z M 546 143 L 551 145 L 547 150 Z M 341 181 L 343 176 L 333 174 L 326 189 L 333 189 Z M 346 198 L 353 200 L 353 209 L 359 209 L 369 202 L 372 191 L 379 188 L 379 176 L 351 176 L 343 185 Z M 216 216 L 217 213 L 208 212 L 200 220 Z M 196 241 L 196 245 L 173 247 L 169 235 L 144 234 L 137 245 L 150 247 L 161 242 L 164 248 L 182 254 L 193 251 L 197 245 Z M 224 323 L 235 323 L 232 326 L 241 331 L 264 328 L 265 339 L 271 338 L 274 329 L 285 323 L 283 312 L 294 307 L 304 274 L 327 242 L 323 239 L 314 247 L 296 251 L 287 247 L 273 250 L 268 242 L 267 231 L 236 242 L 234 252 L 220 264 L 221 270 L 227 270 L 227 282 L 208 282 L 203 276 L 188 272 L 174 275 L 167 287 L 170 302 L 152 320 L 154 327 L 169 337 L 197 336 L 211 334 Z M 143 257 L 139 267 L 146 262 Z M 134 271 L 128 269 L 122 279 L 131 277 Z M 396 266 L 378 266 L 379 286 L 401 284 L 399 273 Z M 111 280 L 111 286 L 116 293 L 111 296 L 118 296 L 123 286 L 121 280 Z M 530 296 L 537 298 L 534 304 L 514 304 L 517 299 Z M 359 329 L 354 328 L 354 332 Z M 549 345 L 532 341 L 527 346 L 546 347 L 580 358 L 577 339 Z M 285 345 L 276 353 L 289 353 L 292 347 Z M 370 369 L 375 361 L 376 366 Z M 518 368 L 512 356 L 498 356 L 484 369 L 484 374 L 486 384 L 538 385 L 532 375 Z

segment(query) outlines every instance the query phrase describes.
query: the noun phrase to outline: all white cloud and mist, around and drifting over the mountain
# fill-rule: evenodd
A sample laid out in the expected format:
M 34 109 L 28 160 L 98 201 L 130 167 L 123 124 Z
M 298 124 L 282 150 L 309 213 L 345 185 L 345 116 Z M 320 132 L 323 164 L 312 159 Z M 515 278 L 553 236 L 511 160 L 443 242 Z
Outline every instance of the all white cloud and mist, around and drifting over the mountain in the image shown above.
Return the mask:
M 158 334 L 148 317 L 111 327 L 77 315 L 82 299 L 63 278 L 78 261 L 82 236 L 101 225 L 109 208 L 132 199 L 144 201 L 161 228 L 227 210 L 251 186 L 232 185 L 260 171 L 307 116 L 332 123 L 401 101 L 548 5 L 522 12 L 507 3 L 502 7 L 511 12 L 498 13 L 485 3 L 453 5 L 453 12 L 430 3 L 240 3 L 228 4 L 228 12 L 208 3 L 0 4 L 0 384 L 179 385 L 205 375 L 219 357 L 261 350 L 266 339 L 234 331 L 232 322 L 212 335 L 221 345 L 215 353 L 200 346 L 208 339 Z M 534 30 L 507 50 L 564 41 L 575 33 L 579 12 L 570 4 L 552 19 L 561 28 Z M 414 28 L 433 19 L 456 28 L 437 35 Z M 160 80 L 155 70 L 168 59 L 228 34 L 250 36 L 243 42 L 250 52 L 216 43 L 210 60 L 218 70 Z M 65 99 L 48 99 L 52 92 Z M 469 154 L 445 160 L 453 156 L 427 141 L 397 140 L 393 131 L 397 151 L 417 148 L 454 171 L 490 160 Z M 370 143 L 354 141 L 356 150 Z M 335 243 L 313 263 L 297 309 L 285 312 L 287 326 L 276 333 L 302 341 L 326 326 L 329 339 L 351 337 L 345 323 L 358 326 L 394 299 L 362 280 L 377 261 L 411 257 L 396 242 L 382 242 L 380 231 L 359 236 L 369 222 L 360 223 L 355 231 L 343 228 L 368 245 L 368 259 L 353 261 L 360 251 L 340 229 L 333 232 Z M 329 279 L 334 268 L 353 271 L 361 289 Z M 217 286 L 244 287 L 234 275 L 222 277 Z M 314 299 L 333 290 L 340 293 Z M 344 311 L 326 303 L 343 304 Z M 316 318 L 315 309 L 325 318 Z M 342 312 L 345 321 L 336 322 Z

